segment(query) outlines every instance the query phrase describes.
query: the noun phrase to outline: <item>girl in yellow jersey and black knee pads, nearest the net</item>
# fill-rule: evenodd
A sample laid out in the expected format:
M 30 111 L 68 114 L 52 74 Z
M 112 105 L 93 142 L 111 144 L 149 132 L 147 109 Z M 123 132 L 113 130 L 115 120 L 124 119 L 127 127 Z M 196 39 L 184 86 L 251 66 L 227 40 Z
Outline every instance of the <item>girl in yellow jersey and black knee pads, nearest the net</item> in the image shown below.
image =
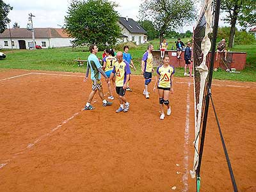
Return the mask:
M 169 56 L 164 56 L 164 64 L 157 68 L 156 83 L 154 86 L 154 92 L 156 88 L 159 94 L 159 104 L 161 115 L 160 119 L 164 119 L 164 105 L 167 106 L 167 115 L 171 115 L 171 106 L 169 103 L 170 92 L 173 93 L 173 74 L 175 73 L 174 67 L 169 65 Z

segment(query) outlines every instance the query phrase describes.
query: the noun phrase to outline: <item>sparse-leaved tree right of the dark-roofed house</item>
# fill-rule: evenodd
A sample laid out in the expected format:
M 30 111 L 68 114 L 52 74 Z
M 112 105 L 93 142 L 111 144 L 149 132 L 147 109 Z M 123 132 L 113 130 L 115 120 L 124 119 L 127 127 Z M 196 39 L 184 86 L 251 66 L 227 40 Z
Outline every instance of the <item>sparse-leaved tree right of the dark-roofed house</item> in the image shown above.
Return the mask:
M 165 33 L 195 19 L 195 6 L 193 0 L 144 0 L 140 17 L 152 20 L 162 42 Z

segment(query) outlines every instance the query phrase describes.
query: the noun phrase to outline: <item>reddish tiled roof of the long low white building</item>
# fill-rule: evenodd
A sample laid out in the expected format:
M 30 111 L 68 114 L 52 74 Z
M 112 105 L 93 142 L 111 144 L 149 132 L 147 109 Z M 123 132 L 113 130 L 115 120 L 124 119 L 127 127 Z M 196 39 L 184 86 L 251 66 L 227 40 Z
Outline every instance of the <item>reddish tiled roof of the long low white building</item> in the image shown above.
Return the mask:
M 32 32 L 26 28 L 10 29 L 12 38 L 31 38 Z M 35 28 L 35 38 L 68 38 L 67 33 L 64 33 L 60 28 Z M 0 38 L 9 38 L 9 29 L 5 29 L 0 33 Z

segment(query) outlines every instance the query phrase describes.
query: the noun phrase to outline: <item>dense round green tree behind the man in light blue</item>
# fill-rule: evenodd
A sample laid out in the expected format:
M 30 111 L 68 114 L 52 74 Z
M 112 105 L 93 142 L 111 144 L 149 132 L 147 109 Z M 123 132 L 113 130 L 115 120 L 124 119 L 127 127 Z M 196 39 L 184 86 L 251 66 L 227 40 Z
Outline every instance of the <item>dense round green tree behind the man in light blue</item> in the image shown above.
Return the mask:
M 121 35 L 116 6 L 108 0 L 73 0 L 65 17 L 65 31 L 75 38 L 73 45 L 97 44 L 101 50 L 115 45 Z

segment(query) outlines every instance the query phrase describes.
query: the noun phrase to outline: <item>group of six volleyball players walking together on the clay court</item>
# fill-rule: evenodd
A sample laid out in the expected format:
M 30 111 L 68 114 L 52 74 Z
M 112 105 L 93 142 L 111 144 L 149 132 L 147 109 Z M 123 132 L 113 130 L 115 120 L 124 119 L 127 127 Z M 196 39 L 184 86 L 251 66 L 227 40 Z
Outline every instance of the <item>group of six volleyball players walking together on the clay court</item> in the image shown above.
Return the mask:
M 93 108 L 91 102 L 98 91 L 100 99 L 102 99 L 102 106 L 111 106 L 113 102 L 109 102 L 104 98 L 102 92 L 102 82 L 101 76 L 104 77 L 106 83 L 108 84 L 108 90 L 110 96 L 109 100 L 113 100 L 112 86 L 115 88 L 118 95 L 118 100 L 120 102 L 120 107 L 116 109 L 116 113 L 129 111 L 130 103 L 125 97 L 125 92 L 129 88 L 129 81 L 131 81 L 131 68 L 136 70 L 134 63 L 132 62 L 131 54 L 128 53 L 129 47 L 126 45 L 124 47 L 124 52 L 117 52 L 115 57 L 115 51 L 113 49 L 106 49 L 106 57 L 104 57 L 103 67 L 100 65 L 99 59 L 96 54 L 98 52 L 97 45 L 90 45 L 90 56 L 88 56 L 86 76 L 84 77 L 84 82 L 88 81 L 89 70 L 91 70 L 92 79 L 92 92 L 88 96 L 88 100 L 84 106 L 84 110 L 92 110 Z M 153 68 L 153 56 L 152 51 L 154 49 L 153 45 L 148 45 L 147 51 L 143 54 L 141 60 L 141 73 L 145 79 L 143 95 L 146 99 L 149 99 L 148 84 L 152 81 Z M 153 91 L 159 94 L 159 106 L 161 109 L 160 119 L 164 119 L 164 105 L 167 107 L 166 115 L 171 115 L 170 106 L 170 93 L 173 93 L 173 76 L 175 69 L 169 64 L 169 56 L 163 56 L 163 65 L 157 67 L 157 77 L 156 83 L 154 84 Z M 130 68 L 131 67 L 131 68 Z M 130 88 L 131 90 L 131 88 Z

